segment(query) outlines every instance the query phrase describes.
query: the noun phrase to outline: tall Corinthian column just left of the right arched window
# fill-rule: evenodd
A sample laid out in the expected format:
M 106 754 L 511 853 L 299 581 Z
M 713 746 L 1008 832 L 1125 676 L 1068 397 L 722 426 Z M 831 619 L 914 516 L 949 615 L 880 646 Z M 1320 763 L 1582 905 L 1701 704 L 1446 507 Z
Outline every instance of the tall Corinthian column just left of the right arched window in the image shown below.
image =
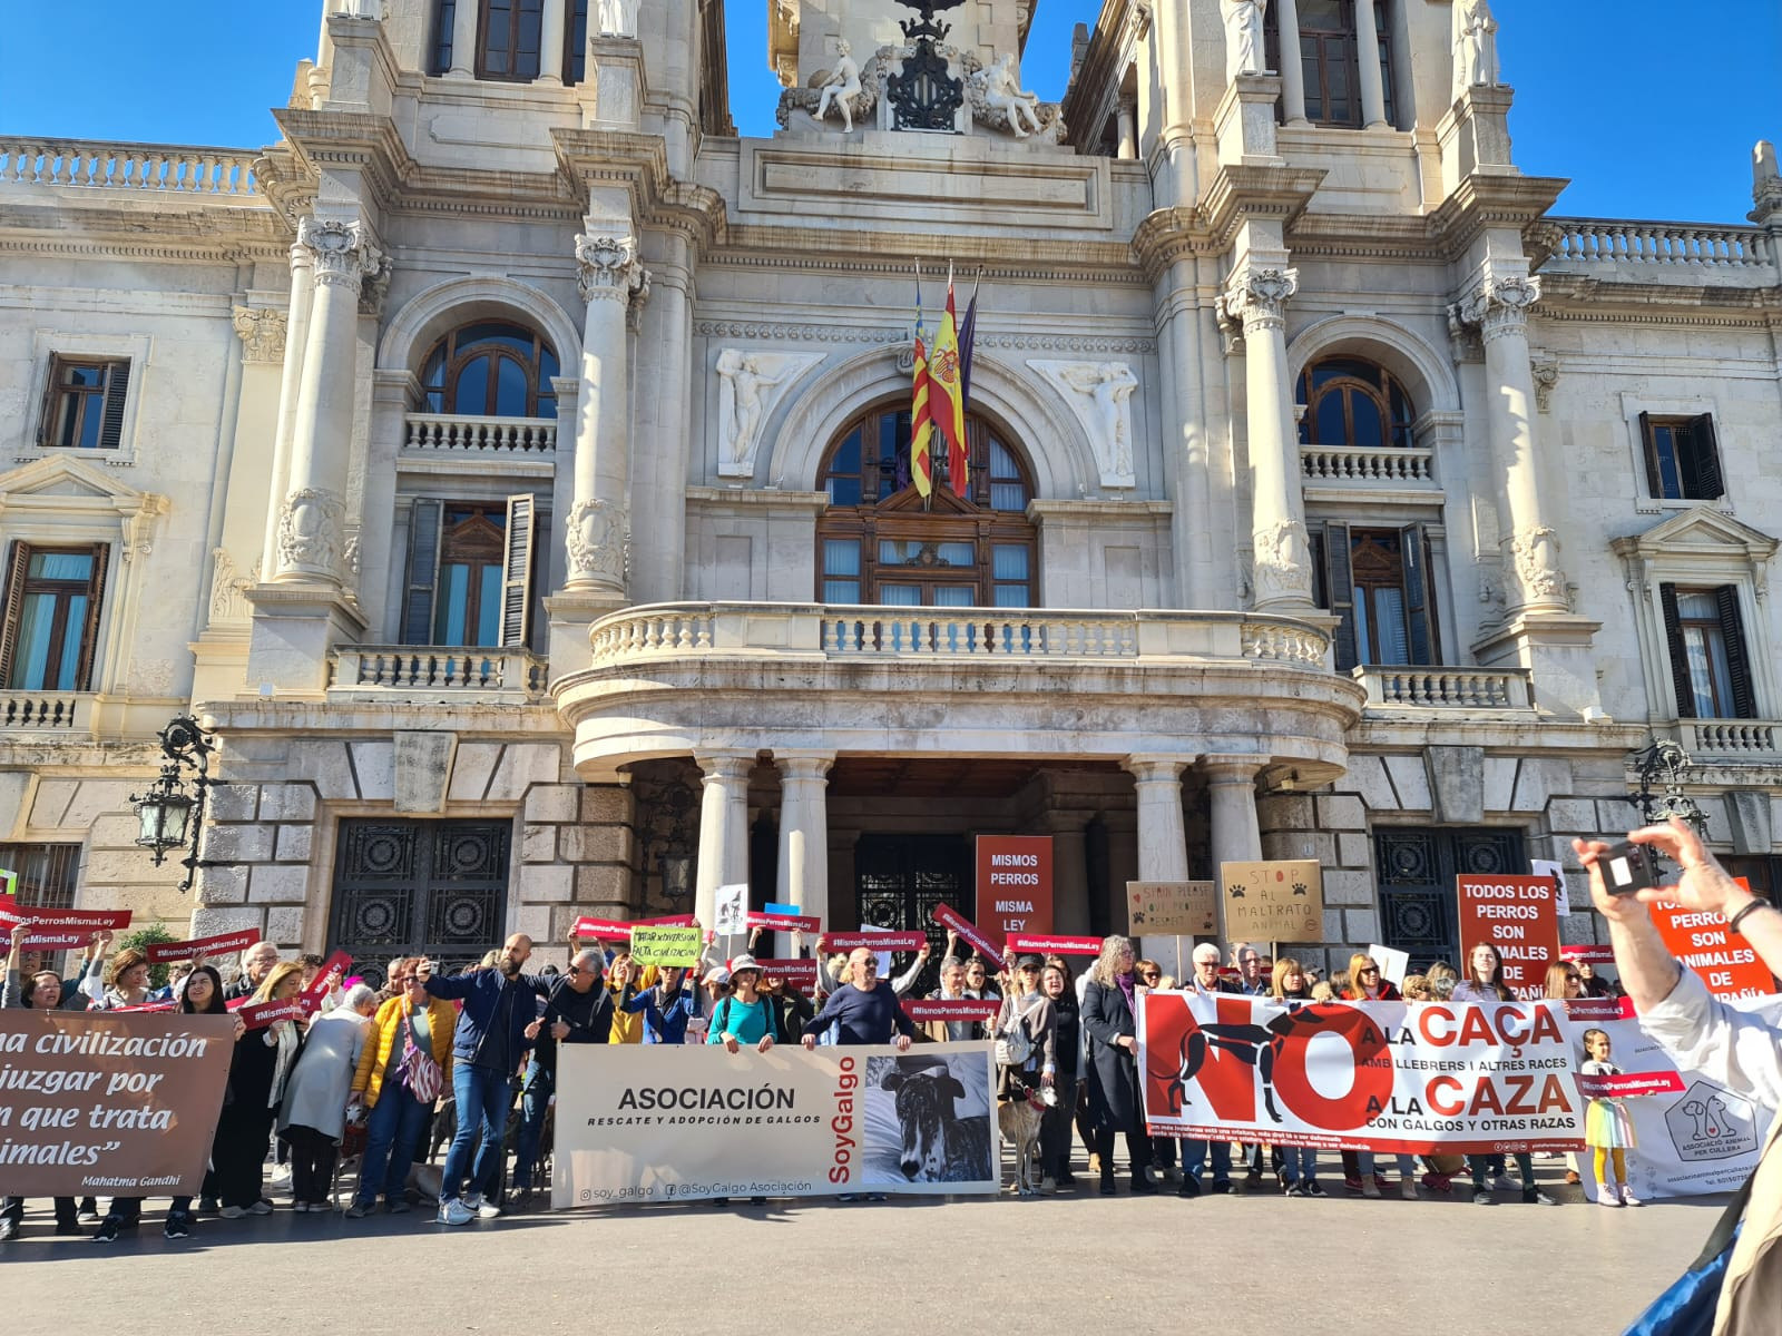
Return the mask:
M 1312 607 L 1312 547 L 1299 486 L 1299 431 L 1287 376 L 1287 301 L 1294 269 L 1246 262 L 1221 297 L 1226 319 L 1244 326 L 1244 390 L 1249 422 L 1251 542 L 1256 611 Z

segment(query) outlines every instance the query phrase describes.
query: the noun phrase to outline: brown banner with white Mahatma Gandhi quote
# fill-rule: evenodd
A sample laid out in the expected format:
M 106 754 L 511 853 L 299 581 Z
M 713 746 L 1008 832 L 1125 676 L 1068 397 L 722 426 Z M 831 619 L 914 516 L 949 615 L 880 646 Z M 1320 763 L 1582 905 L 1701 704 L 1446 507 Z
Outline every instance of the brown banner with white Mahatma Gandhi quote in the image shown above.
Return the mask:
M 18 1197 L 196 1197 L 235 1017 L 0 1010 L 0 1183 Z

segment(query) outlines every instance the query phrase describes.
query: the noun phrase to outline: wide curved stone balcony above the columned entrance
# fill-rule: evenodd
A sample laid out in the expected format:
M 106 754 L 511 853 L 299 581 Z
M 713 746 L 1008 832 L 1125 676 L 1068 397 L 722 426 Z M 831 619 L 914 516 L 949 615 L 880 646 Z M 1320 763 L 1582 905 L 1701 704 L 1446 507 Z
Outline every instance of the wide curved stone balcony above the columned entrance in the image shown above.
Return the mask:
M 713 748 L 1253 755 L 1333 778 L 1363 691 L 1320 622 L 1253 613 L 656 604 L 552 682 L 583 777 Z

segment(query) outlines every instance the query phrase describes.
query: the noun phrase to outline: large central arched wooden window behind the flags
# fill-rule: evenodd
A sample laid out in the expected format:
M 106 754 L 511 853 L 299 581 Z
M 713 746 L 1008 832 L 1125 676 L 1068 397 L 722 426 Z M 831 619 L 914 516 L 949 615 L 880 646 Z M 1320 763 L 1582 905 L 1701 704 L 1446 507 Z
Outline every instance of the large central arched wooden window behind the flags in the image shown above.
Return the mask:
M 829 509 L 816 525 L 816 597 L 825 604 L 902 607 L 1032 607 L 1039 545 L 1026 520 L 1034 483 L 993 422 L 966 417 L 968 495 L 944 481 L 936 451 L 934 495 L 909 481 L 909 406 L 861 413 L 823 456 L 818 485 Z

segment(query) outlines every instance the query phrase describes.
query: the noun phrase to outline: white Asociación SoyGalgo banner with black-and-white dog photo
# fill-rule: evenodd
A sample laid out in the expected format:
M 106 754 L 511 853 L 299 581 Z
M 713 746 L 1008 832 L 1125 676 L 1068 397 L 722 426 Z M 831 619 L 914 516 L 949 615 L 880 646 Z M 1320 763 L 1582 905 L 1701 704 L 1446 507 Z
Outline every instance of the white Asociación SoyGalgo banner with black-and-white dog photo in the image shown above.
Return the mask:
M 991 1046 L 567 1044 L 551 1204 L 994 1193 Z

